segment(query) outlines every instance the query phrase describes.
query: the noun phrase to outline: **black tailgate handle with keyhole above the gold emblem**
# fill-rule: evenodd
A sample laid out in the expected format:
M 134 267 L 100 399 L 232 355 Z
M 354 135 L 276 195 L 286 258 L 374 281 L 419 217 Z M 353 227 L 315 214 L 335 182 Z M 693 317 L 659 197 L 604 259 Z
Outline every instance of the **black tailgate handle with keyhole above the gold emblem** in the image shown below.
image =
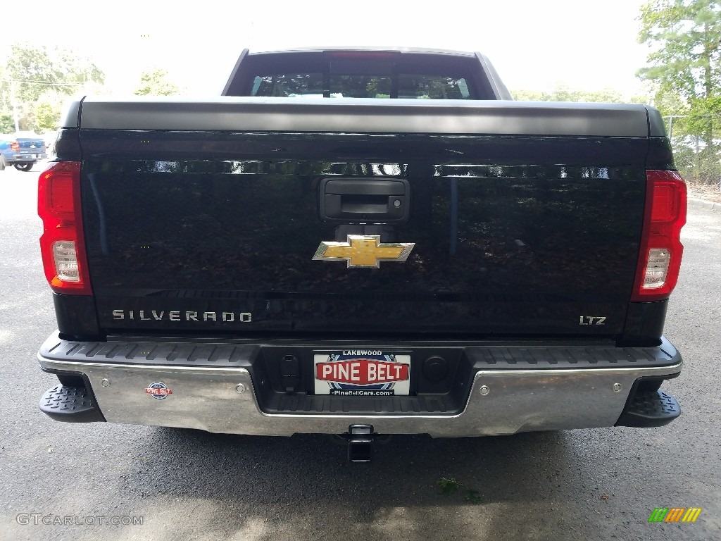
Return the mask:
M 388 224 L 407 221 L 410 186 L 405 179 L 325 178 L 320 182 L 321 219 Z

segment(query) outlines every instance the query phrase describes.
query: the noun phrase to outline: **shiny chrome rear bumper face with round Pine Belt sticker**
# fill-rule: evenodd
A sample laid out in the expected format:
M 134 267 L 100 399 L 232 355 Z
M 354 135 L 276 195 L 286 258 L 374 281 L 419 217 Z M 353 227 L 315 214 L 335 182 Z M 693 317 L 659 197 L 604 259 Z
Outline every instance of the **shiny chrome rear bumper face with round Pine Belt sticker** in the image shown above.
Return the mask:
M 86 374 L 107 421 L 268 436 L 341 434 L 351 424 L 372 424 L 379 434 L 434 437 L 614 426 L 638 378 L 673 377 L 682 364 L 679 356 L 678 363 L 663 367 L 481 370 L 463 410 L 454 415 L 347 415 L 342 410 L 319 415 L 265 413 L 250 372 L 241 367 L 38 359 L 47 371 Z M 172 393 L 159 398 L 146 392 L 152 382 Z

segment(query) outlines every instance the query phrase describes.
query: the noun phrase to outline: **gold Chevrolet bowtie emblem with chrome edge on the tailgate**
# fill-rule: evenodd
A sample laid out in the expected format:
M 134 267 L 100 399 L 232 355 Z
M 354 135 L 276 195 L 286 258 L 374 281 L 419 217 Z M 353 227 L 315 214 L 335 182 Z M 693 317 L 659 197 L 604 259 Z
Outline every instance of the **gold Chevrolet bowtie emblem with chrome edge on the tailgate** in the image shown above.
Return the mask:
M 348 242 L 321 242 L 314 260 L 347 261 L 348 268 L 379 268 L 381 261 L 405 261 L 415 242 L 381 242 L 380 235 L 348 235 Z

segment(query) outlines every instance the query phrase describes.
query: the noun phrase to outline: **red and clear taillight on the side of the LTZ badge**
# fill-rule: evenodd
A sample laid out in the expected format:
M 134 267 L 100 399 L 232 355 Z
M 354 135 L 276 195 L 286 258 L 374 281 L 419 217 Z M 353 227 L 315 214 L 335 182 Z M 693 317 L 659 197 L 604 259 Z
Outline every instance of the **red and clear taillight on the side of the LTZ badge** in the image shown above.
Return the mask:
M 681 270 L 686 184 L 674 171 L 646 172 L 646 206 L 632 301 L 667 299 Z

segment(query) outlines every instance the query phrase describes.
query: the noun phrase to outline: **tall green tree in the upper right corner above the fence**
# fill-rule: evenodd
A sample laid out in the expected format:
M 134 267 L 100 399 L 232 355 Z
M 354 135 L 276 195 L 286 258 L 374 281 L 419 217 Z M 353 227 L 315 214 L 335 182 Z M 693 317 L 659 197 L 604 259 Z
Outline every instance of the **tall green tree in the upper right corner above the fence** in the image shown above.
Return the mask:
M 686 127 L 702 135 L 712 154 L 721 120 L 721 3 L 653 0 L 642 6 L 640 21 L 639 42 L 652 51 L 637 75 L 655 84 L 658 105 L 675 102 L 673 108 L 686 110 Z

